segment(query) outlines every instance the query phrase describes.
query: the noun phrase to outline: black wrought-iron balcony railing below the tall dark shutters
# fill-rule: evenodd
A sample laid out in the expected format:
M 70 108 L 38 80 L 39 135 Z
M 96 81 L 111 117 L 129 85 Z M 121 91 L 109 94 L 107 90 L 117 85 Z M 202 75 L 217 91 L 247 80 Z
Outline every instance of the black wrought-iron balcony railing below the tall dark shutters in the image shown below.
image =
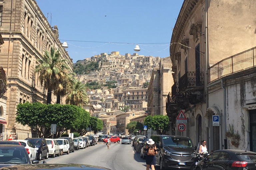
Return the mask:
M 187 71 L 179 79 L 179 91 L 188 87 L 204 87 L 204 72 Z

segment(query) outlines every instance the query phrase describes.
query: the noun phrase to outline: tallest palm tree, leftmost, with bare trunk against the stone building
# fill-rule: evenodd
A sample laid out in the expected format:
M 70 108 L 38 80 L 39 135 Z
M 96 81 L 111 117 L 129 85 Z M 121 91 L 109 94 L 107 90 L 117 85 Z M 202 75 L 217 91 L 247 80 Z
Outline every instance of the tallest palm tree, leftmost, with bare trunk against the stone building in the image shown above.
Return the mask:
M 58 88 L 62 75 L 61 71 L 64 68 L 68 69 L 66 59 L 62 59 L 59 50 L 55 51 L 54 48 L 51 47 L 50 53 L 45 51 L 43 60 L 38 59 L 37 61 L 39 61 L 40 64 L 36 66 L 35 73 L 40 72 L 40 83 L 47 89 L 46 103 L 51 104 L 52 90 Z

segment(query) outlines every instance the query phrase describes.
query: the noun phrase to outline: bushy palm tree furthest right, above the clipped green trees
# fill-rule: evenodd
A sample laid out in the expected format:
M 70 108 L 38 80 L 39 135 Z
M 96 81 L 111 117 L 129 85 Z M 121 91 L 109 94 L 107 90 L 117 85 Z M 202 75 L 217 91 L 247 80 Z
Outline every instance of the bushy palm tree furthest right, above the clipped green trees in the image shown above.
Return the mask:
M 88 103 L 88 100 L 87 100 L 85 84 L 75 80 L 73 89 L 68 92 L 68 96 L 66 98 L 66 104 L 83 106 L 83 105 L 86 105 L 87 103 Z

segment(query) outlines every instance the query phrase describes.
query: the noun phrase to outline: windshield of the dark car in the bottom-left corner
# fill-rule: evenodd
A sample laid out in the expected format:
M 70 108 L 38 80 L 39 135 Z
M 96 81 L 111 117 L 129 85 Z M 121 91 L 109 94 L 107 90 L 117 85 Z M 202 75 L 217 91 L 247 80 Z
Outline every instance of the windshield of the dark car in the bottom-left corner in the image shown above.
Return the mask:
M 0 163 L 28 164 L 27 152 L 25 149 L 0 148 Z

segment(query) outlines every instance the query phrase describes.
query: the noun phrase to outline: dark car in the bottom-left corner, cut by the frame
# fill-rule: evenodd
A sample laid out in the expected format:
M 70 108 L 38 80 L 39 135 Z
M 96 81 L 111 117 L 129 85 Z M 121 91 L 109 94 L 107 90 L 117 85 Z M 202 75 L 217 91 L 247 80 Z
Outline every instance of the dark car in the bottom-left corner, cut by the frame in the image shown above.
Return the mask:
M 31 162 L 27 150 L 23 145 L 5 144 L 0 145 L 0 168 L 16 164 L 39 163 L 38 160 Z

